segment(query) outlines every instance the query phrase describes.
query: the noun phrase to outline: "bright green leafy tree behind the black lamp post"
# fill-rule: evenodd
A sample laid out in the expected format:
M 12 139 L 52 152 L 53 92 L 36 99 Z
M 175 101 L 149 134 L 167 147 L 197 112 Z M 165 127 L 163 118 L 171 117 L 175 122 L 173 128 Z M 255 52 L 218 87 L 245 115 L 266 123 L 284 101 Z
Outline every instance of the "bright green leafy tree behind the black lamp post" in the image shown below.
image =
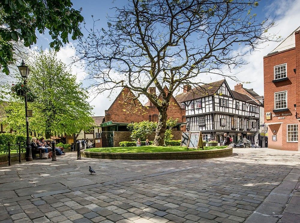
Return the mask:
M 87 91 L 76 83 L 64 63 L 56 58 L 54 51 L 36 52 L 29 63 L 28 87 L 35 101 L 28 103 L 33 110 L 29 118 L 29 128 L 50 138 L 52 134 L 74 134 L 88 130 L 93 125 L 91 106 L 86 101 Z M 25 133 L 24 102 L 7 103 L 4 107 L 6 117 L 2 123 L 8 124 L 18 133 Z

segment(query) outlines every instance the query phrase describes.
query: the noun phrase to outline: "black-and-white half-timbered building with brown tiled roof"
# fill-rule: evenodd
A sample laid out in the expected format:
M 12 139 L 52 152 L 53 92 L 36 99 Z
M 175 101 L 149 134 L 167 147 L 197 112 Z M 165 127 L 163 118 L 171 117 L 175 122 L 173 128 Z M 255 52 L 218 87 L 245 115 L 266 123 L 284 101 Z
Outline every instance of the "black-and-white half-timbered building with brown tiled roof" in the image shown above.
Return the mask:
M 227 133 L 233 142 L 244 136 L 256 142 L 259 104 L 230 90 L 225 79 L 193 89 L 187 85 L 175 98 L 186 110 L 187 131 L 202 131 L 203 140 L 222 142 Z

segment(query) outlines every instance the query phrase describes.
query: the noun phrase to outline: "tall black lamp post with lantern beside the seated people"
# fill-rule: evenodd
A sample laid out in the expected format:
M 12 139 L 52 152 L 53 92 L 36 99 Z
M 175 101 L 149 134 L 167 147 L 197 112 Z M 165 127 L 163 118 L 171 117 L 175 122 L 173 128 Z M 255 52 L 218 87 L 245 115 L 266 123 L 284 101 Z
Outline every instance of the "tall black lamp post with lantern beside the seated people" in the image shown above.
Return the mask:
M 24 78 L 24 86 L 26 87 L 27 81 L 29 75 L 29 68 L 25 65 L 24 60 L 22 60 L 21 66 L 18 66 L 18 69 L 20 71 L 20 74 L 22 78 Z M 26 88 L 25 88 L 26 89 Z M 31 146 L 29 142 L 29 130 L 28 130 L 28 107 L 27 107 L 27 92 L 24 91 L 24 97 L 25 97 L 25 115 L 26 115 L 26 161 L 32 161 L 32 153 L 31 153 Z

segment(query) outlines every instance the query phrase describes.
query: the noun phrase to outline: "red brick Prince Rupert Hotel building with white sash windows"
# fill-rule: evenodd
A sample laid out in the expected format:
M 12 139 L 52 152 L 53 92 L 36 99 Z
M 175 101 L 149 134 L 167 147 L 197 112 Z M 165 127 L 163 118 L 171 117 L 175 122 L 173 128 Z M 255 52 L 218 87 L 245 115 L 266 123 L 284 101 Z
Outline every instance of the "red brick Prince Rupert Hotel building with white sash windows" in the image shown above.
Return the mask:
M 299 151 L 300 27 L 264 57 L 268 148 Z

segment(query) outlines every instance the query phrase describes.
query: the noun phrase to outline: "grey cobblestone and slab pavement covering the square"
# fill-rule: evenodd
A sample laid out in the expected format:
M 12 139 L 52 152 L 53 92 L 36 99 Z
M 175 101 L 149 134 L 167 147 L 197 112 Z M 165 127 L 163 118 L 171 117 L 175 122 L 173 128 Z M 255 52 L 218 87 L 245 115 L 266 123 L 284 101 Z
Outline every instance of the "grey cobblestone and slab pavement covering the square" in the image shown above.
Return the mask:
M 300 152 L 233 152 L 209 160 L 76 160 L 71 152 L 2 165 L 0 222 L 299 223 Z

